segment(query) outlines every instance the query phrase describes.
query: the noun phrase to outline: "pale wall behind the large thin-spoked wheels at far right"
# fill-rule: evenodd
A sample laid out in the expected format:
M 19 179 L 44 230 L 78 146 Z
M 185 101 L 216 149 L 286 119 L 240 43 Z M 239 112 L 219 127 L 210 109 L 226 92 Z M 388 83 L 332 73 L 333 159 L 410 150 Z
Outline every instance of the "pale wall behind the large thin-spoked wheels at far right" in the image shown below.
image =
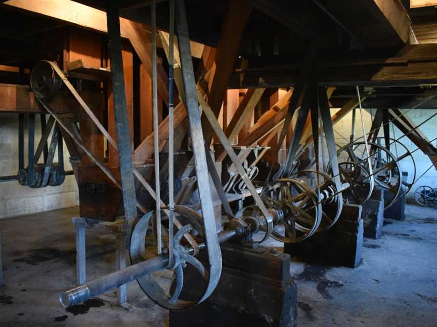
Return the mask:
M 336 109 L 331 110 L 331 114 L 336 112 Z M 403 110 L 402 112 L 407 112 L 408 110 Z M 373 115 L 375 114 L 376 110 L 373 110 Z M 422 122 L 424 122 L 426 119 L 430 118 L 432 115 L 436 113 L 435 110 L 427 110 L 427 109 L 414 109 L 411 111 L 408 111 L 407 115 L 408 117 L 416 124 L 419 125 Z M 366 130 L 366 133 L 370 131 L 370 127 L 372 124 L 371 116 L 370 116 L 370 110 L 364 111 L 363 110 L 363 121 L 364 121 L 364 128 Z M 391 138 L 398 139 L 404 134 L 396 127 L 394 127 L 394 130 L 392 129 L 392 125 L 390 125 L 390 135 L 394 135 L 395 137 L 391 136 Z M 344 145 L 348 143 L 349 136 L 351 135 L 352 130 L 352 112 L 349 113 L 347 116 L 344 117 L 340 122 L 334 125 L 334 134 L 336 138 L 336 143 L 338 145 Z M 432 140 L 435 137 L 437 137 L 437 116 L 431 118 L 428 122 L 423 124 L 420 127 L 420 130 L 425 134 L 425 136 L 428 138 L 428 140 Z M 341 135 L 341 136 L 340 136 Z M 355 137 L 361 137 L 363 136 L 363 128 L 361 125 L 361 117 L 360 117 L 360 111 L 357 108 L 357 120 L 356 120 L 356 129 L 355 129 Z M 379 136 L 383 136 L 382 129 L 380 131 Z M 345 139 L 346 140 L 345 140 Z M 363 140 L 363 139 L 361 139 Z M 417 149 L 417 146 L 410 141 L 406 136 L 402 137 L 400 140 L 410 151 L 414 151 Z M 433 145 L 436 145 L 436 141 L 434 140 Z M 391 147 L 391 146 L 390 146 Z M 398 153 L 397 156 L 401 156 L 406 152 L 401 146 L 398 147 L 391 147 L 391 152 L 396 155 L 396 152 Z M 414 160 L 416 162 L 416 178 L 418 178 L 420 175 L 425 173 L 425 171 L 432 165 L 431 160 L 427 155 L 425 155 L 422 151 L 417 150 L 413 153 Z M 401 170 L 404 172 L 408 172 L 408 182 L 413 182 L 413 162 L 410 158 L 406 158 L 404 160 L 400 161 L 400 167 Z M 414 196 L 414 191 L 417 187 L 421 185 L 427 185 L 433 188 L 437 188 L 437 170 L 435 168 L 429 169 L 428 172 L 425 173 L 425 175 L 420 178 L 415 185 L 412 187 L 408 199 L 411 201 Z

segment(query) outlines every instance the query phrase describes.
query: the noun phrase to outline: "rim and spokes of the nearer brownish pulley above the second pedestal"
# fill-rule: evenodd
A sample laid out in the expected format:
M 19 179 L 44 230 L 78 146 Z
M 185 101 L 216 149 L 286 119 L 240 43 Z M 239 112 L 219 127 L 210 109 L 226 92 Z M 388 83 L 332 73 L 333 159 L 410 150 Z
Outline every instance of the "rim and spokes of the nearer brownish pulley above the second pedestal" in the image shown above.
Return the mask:
M 271 191 L 272 188 L 274 188 L 274 186 L 276 184 L 284 184 L 285 183 L 285 188 L 283 186 L 280 186 L 281 188 L 284 189 L 284 193 L 287 194 L 287 199 L 282 201 L 282 200 L 278 200 L 278 199 L 273 199 L 269 196 L 266 195 L 266 192 Z M 299 194 L 297 194 L 296 196 L 291 196 L 291 192 L 289 190 L 289 186 L 288 183 L 292 184 L 294 186 L 294 188 L 296 188 L 297 190 L 299 190 Z M 269 188 L 270 187 L 270 188 Z M 288 191 L 287 191 L 288 189 Z M 281 190 L 282 192 L 282 190 Z M 264 189 L 263 193 L 261 193 L 261 198 L 263 199 L 263 201 L 266 203 L 266 205 L 268 207 L 279 207 L 283 212 L 284 212 L 284 218 L 283 218 L 283 224 L 284 224 L 284 235 L 281 234 L 281 232 L 279 232 L 278 230 L 275 229 L 275 227 L 278 227 L 278 225 L 276 225 L 273 228 L 272 231 L 272 237 L 280 242 L 283 243 L 297 243 L 297 242 L 301 242 L 307 238 L 309 238 L 310 236 L 312 236 L 317 229 L 320 226 L 320 222 L 322 220 L 322 210 L 321 210 L 321 203 L 318 202 L 318 197 L 316 192 L 314 192 L 313 189 L 311 189 L 311 187 L 309 187 L 306 183 L 304 183 L 303 181 L 299 181 L 295 178 L 281 178 L 278 179 L 276 181 L 273 181 L 271 183 L 269 183 L 267 185 L 267 187 Z M 308 198 L 308 199 L 305 199 Z M 300 203 L 302 203 L 302 201 L 305 200 L 305 202 L 303 202 L 302 205 L 300 205 L 299 208 L 299 204 L 295 204 L 295 200 L 299 200 L 301 199 L 301 201 L 299 201 Z M 308 201 L 311 201 L 312 204 L 308 206 L 308 208 L 304 209 L 304 207 L 306 207 L 308 203 Z M 296 215 L 296 208 L 298 210 L 297 215 Z M 303 209 L 303 210 L 302 210 Z M 307 209 L 312 209 L 314 210 L 313 214 L 310 214 L 308 212 L 304 212 Z M 293 211 L 294 210 L 294 211 Z M 291 212 L 287 213 L 287 212 Z M 303 212 L 303 213 L 302 213 Z M 301 224 L 299 224 L 298 222 L 296 222 L 296 217 L 299 218 L 300 215 L 302 215 L 302 217 L 304 217 L 305 220 L 307 220 L 307 224 L 311 225 L 310 228 L 304 227 Z M 302 220 L 302 217 L 300 217 L 300 219 Z M 310 223 L 308 223 L 310 222 Z M 291 226 L 289 225 L 291 223 Z M 299 233 L 301 233 L 301 235 L 297 236 L 297 231 Z M 286 232 L 288 232 L 289 234 L 291 233 L 293 236 L 286 236 Z

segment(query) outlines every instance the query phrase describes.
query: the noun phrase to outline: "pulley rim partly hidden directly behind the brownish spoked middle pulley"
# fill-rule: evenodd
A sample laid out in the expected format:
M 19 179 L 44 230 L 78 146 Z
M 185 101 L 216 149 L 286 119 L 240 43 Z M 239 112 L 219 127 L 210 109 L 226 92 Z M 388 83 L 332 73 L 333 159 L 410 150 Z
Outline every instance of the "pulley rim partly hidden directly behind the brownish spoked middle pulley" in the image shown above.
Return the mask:
M 329 203 L 322 202 L 322 221 L 321 221 L 320 225 L 322 225 L 323 222 L 328 222 L 328 225 L 327 226 L 319 226 L 319 228 L 316 230 L 316 233 L 324 232 L 324 231 L 327 231 L 328 229 L 330 229 L 332 226 L 334 226 L 335 223 L 338 221 L 340 214 L 341 214 L 341 210 L 343 209 L 343 195 L 341 194 L 341 192 L 338 192 L 338 190 L 335 186 L 334 180 L 332 179 L 332 176 L 325 173 L 325 172 L 320 172 L 320 171 L 316 171 L 316 170 L 312 170 L 312 169 L 304 169 L 304 170 L 301 170 L 301 171 L 294 173 L 291 177 L 297 178 L 299 176 L 299 174 L 306 174 L 306 173 L 318 174 L 318 175 L 322 176 L 323 178 L 325 178 L 325 181 L 319 186 L 320 189 L 322 189 L 325 186 L 328 186 L 328 187 L 332 188 L 331 192 L 334 192 L 334 196 L 333 196 L 334 198 L 330 197 L 331 201 Z M 333 201 L 337 203 L 337 212 L 335 213 L 334 218 L 331 219 L 325 213 L 325 210 L 323 210 L 323 206 L 329 205 Z

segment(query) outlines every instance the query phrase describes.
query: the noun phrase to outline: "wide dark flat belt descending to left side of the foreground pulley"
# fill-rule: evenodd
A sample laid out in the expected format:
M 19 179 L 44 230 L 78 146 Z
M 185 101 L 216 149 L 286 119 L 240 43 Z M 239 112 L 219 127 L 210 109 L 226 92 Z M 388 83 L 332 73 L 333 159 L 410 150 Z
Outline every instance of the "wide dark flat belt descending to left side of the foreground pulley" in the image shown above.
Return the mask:
M 126 93 L 124 89 L 123 58 L 121 55 L 120 17 L 116 4 L 107 1 L 106 16 L 109 38 L 109 58 L 111 61 L 111 83 L 114 96 L 114 116 L 117 132 L 120 177 L 123 191 L 126 235 L 137 220 L 137 196 L 135 192 L 132 166 L 132 149 L 130 147 L 129 123 L 127 120 Z

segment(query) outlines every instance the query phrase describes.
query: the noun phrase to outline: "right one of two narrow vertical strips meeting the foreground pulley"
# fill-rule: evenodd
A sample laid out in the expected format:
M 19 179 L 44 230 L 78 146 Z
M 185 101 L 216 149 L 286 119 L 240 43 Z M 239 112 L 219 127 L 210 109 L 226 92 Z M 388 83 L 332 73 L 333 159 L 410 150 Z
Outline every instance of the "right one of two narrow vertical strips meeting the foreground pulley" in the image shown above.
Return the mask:
M 173 178 L 174 178 L 174 135 L 173 135 L 173 64 L 174 64 L 174 0 L 170 0 L 170 26 L 169 26 L 169 47 L 168 47 L 168 251 L 169 265 L 173 265 L 173 221 L 174 221 L 174 198 L 173 198 Z

